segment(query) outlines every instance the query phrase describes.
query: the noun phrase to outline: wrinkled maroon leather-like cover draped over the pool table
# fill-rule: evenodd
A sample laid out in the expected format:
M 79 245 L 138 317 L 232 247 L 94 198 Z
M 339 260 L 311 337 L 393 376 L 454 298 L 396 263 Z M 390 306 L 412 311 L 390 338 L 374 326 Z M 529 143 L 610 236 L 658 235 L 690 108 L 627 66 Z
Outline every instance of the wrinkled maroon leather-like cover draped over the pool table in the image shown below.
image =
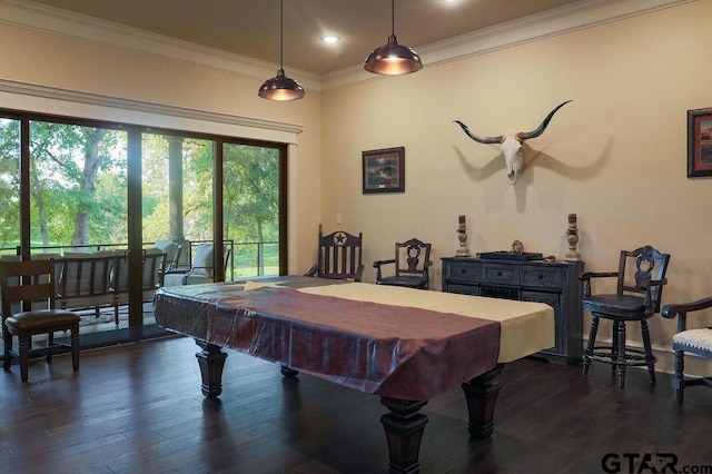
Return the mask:
M 386 397 L 428 399 L 496 365 L 500 323 L 299 293 L 338 284 L 280 277 L 279 287 L 166 287 L 156 320 L 177 333 Z

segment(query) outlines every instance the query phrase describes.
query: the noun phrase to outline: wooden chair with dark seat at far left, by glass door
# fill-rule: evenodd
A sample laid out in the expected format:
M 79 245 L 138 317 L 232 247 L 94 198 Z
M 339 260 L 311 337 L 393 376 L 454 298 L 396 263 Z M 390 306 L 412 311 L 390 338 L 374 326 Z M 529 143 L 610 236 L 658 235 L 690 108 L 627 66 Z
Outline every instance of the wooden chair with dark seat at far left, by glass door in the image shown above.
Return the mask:
M 3 368 L 10 371 L 12 357 L 20 361 L 20 378 L 28 379 L 28 366 L 32 336 L 47 335 L 48 364 L 52 352 L 63 344 L 55 344 L 56 332 L 70 333 L 71 362 L 79 369 L 79 320 L 76 313 L 55 308 L 55 259 L 0 261 L 0 292 L 2 299 Z M 42 306 L 33 309 L 32 304 Z M 17 309 L 17 310 L 13 310 Z M 12 337 L 19 342 L 12 349 Z

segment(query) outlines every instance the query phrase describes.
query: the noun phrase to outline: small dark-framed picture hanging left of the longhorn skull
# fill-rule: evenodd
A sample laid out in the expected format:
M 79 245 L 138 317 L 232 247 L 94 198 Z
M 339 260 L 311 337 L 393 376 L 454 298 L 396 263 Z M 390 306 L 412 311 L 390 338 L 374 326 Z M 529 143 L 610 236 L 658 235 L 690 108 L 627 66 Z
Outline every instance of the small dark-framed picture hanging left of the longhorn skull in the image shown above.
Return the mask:
M 364 194 L 405 192 L 405 148 L 362 152 Z

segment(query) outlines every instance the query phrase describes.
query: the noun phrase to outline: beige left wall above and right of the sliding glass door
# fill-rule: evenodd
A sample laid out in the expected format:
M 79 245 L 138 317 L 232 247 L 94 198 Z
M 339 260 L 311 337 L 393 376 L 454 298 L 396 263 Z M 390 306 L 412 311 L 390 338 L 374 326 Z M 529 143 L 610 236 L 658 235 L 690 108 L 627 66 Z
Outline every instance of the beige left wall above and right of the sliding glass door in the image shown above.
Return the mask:
M 314 185 L 319 181 L 320 174 L 318 93 L 307 93 L 299 101 L 274 102 L 257 96 L 261 81 L 234 72 L 1 22 L 0 43 L 12 45 L 12 48 L 0 48 L 0 63 L 3 65 L 0 79 L 303 127 L 297 135 L 297 146 L 293 147 L 296 152 L 290 156 L 290 268 L 312 265 L 314 256 L 299 249 L 312 249 L 319 221 L 320 192 Z M 31 110 L 33 105 L 30 102 L 28 99 L 28 105 L 12 107 Z M 8 103 L 0 97 L 0 108 L 6 107 Z M 62 112 L 61 106 L 59 112 Z M 113 120 L 130 120 L 128 111 L 119 109 L 109 113 L 116 113 L 111 116 Z M 215 130 L 226 132 L 222 124 L 215 124 Z

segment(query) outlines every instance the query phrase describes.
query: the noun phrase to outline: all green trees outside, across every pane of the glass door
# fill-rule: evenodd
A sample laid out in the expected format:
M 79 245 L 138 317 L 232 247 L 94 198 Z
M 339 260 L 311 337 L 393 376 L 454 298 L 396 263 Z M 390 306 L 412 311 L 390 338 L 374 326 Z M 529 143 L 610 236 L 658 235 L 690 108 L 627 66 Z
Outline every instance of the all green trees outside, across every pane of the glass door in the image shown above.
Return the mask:
M 19 120 L 0 119 L 0 239 L 19 240 Z M 123 244 L 127 240 L 127 134 L 30 121 L 30 223 L 34 246 Z M 169 138 L 144 134 L 142 221 L 147 241 L 169 234 Z M 215 141 L 182 139 L 184 225 L 189 240 L 211 240 Z M 224 148 L 225 238 L 279 239 L 279 149 Z M 239 246 L 238 248 L 246 247 Z M 257 248 L 263 251 L 264 246 Z M 274 247 L 277 249 L 277 246 Z M 255 249 L 246 249 L 254 268 Z M 274 253 L 278 258 L 278 253 Z M 237 256 L 235 256 L 237 259 Z M 264 274 L 265 255 L 259 255 Z

